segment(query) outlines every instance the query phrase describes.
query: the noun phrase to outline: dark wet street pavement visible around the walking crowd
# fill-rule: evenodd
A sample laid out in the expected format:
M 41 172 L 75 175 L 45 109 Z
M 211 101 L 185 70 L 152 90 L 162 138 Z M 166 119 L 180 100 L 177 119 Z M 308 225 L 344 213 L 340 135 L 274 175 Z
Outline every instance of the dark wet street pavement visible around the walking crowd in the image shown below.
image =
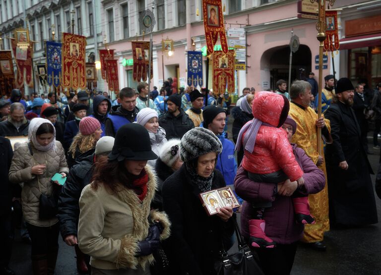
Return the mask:
M 369 134 L 370 136 L 370 134 Z M 369 139 L 370 141 L 370 139 Z M 369 160 L 376 172 L 380 152 L 371 144 Z M 375 176 L 372 176 L 373 180 Z M 379 220 L 381 220 L 381 200 L 376 197 Z M 10 267 L 17 275 L 31 275 L 30 246 L 20 242 L 17 232 Z M 326 233 L 326 252 L 317 252 L 300 245 L 295 257 L 292 274 L 380 274 L 381 271 L 381 223 L 351 229 L 334 229 Z M 74 248 L 68 247 L 60 237 L 60 251 L 57 275 L 77 274 Z M 276 263 L 274 263 L 276 264 Z

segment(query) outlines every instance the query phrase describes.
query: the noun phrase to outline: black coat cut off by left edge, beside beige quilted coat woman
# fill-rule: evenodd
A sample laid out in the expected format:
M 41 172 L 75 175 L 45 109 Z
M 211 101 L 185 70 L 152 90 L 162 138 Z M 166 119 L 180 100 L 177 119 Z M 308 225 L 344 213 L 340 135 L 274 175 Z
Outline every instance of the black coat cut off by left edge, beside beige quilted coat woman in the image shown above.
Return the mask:
M 13 151 L 8 139 L 0 137 L 0 216 L 11 212 L 12 185 L 8 180 Z

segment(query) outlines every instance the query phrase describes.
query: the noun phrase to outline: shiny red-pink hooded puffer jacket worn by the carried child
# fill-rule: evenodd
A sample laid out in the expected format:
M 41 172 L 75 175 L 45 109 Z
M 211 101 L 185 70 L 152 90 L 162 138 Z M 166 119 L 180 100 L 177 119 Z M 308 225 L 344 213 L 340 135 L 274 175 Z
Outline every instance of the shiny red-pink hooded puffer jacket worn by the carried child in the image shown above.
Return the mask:
M 289 103 L 281 95 L 271 92 L 260 92 L 255 95 L 253 101 L 254 118 L 273 127 L 260 126 L 253 153 L 245 150 L 242 166 L 246 171 L 254 174 L 269 174 L 283 170 L 291 181 L 295 181 L 303 175 L 288 141 L 286 131 L 279 128 L 287 117 L 288 109 Z M 244 140 L 245 134 L 246 132 L 242 140 Z

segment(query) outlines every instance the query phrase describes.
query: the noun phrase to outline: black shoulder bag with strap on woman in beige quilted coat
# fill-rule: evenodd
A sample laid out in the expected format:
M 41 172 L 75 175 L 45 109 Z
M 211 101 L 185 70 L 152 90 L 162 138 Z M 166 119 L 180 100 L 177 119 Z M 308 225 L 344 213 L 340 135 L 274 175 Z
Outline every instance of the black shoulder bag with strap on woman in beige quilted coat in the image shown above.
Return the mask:
M 33 156 L 33 151 L 30 143 L 28 143 L 28 148 L 30 155 L 32 156 L 33 162 L 37 165 L 36 159 Z M 39 204 L 39 218 L 41 220 L 48 220 L 54 218 L 58 214 L 58 199 L 61 192 L 61 187 L 53 185 L 54 191 L 51 196 L 43 194 L 41 191 L 40 177 L 37 175 L 38 189 L 40 190 L 40 204 Z

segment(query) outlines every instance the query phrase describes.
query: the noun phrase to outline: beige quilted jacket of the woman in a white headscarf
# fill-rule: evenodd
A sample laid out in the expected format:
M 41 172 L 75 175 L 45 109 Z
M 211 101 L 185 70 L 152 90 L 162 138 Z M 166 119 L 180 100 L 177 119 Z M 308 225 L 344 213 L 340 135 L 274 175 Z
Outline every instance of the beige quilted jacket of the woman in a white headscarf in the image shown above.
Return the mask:
M 57 152 L 51 150 L 47 152 L 39 151 L 32 145 L 33 156 L 38 164 L 45 164 L 44 174 L 39 175 L 41 192 L 46 195 L 53 193 L 55 183 L 51 182 L 51 178 L 55 173 L 69 172 L 67 168 L 64 148 L 61 142 L 56 141 Z M 39 202 L 40 190 L 38 188 L 38 180 L 36 175 L 32 175 L 32 167 L 36 165 L 29 152 L 28 144 L 20 145 L 14 152 L 12 164 L 9 169 L 9 181 L 12 183 L 24 183 L 21 191 L 22 212 L 27 222 L 35 226 L 49 227 L 58 222 L 58 219 L 40 220 Z

